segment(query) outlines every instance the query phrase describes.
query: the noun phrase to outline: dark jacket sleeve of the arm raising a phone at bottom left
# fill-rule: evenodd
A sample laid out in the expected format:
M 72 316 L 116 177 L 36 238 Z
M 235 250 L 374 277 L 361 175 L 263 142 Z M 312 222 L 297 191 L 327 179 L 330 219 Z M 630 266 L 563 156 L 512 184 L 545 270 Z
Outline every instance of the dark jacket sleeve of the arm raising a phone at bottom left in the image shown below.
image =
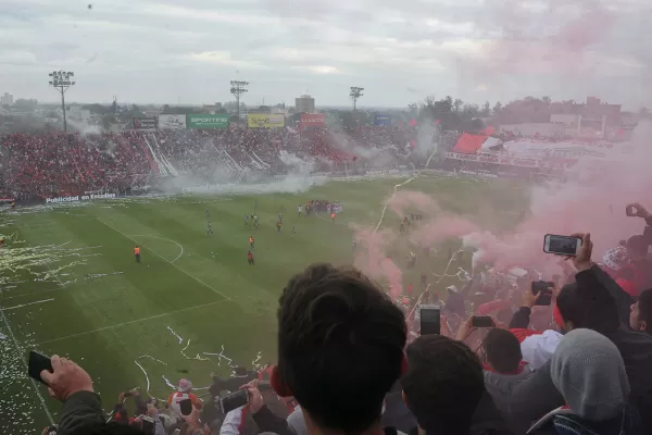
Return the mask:
M 80 433 L 79 430 L 85 426 L 103 423 L 104 413 L 100 397 L 90 391 L 75 393 L 63 402 L 57 435 Z

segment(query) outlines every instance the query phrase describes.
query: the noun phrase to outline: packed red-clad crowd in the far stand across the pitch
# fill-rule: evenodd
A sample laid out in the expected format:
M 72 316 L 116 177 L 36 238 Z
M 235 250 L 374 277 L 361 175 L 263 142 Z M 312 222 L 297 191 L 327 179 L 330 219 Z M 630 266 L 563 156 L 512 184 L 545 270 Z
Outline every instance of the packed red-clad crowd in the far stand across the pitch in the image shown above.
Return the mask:
M 248 170 L 277 174 L 287 170 L 280 151 L 333 170 L 347 162 L 364 164 L 374 157 L 367 150 L 402 150 L 412 133 L 365 127 L 338 134 L 325 128 L 14 134 L 0 137 L 0 196 L 35 199 L 124 190 L 184 174 L 206 182 L 214 182 L 216 173 L 231 178 Z

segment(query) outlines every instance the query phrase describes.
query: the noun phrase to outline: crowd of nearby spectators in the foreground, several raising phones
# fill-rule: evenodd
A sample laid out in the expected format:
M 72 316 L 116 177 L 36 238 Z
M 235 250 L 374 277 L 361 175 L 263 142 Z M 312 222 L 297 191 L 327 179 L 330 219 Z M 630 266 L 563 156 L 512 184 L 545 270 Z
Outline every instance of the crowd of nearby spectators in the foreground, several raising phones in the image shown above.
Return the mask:
M 652 433 L 652 214 L 597 263 L 590 234 L 559 276 L 469 278 L 424 331 L 355 270 L 313 264 L 278 301 L 277 364 L 181 380 L 166 403 L 135 391 L 108 423 L 90 376 L 52 357 L 41 372 L 67 434 L 643 435 Z M 482 272 L 484 273 L 484 272 Z M 424 283 L 422 283 L 424 284 Z M 479 286 L 479 287 L 478 287 Z M 428 293 L 419 296 L 419 300 Z M 547 302 L 542 299 L 548 297 Z M 436 299 L 439 296 L 435 296 Z M 432 299 L 432 295 L 428 295 Z M 422 308 L 422 312 L 425 308 Z M 488 314 L 491 314 L 487 316 Z M 464 316 L 459 326 L 451 318 Z M 489 320 L 478 324 L 478 319 Z M 129 418 L 124 401 L 134 397 Z

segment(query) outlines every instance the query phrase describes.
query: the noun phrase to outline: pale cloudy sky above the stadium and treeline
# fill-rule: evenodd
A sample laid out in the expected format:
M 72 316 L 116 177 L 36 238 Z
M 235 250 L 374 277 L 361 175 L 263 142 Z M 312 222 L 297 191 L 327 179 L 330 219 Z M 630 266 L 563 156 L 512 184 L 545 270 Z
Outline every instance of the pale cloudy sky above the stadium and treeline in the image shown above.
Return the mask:
M 649 0 L 0 0 L 0 94 L 57 101 L 406 107 L 447 95 L 652 108 Z

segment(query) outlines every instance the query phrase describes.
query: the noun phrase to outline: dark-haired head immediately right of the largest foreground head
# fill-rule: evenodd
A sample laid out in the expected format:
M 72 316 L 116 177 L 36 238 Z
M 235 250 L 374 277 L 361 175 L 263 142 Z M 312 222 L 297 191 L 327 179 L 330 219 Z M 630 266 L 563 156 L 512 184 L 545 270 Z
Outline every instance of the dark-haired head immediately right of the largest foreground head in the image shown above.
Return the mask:
M 418 426 L 437 434 L 467 432 L 485 391 L 476 355 L 442 335 L 422 335 L 408 347 L 401 384 Z

